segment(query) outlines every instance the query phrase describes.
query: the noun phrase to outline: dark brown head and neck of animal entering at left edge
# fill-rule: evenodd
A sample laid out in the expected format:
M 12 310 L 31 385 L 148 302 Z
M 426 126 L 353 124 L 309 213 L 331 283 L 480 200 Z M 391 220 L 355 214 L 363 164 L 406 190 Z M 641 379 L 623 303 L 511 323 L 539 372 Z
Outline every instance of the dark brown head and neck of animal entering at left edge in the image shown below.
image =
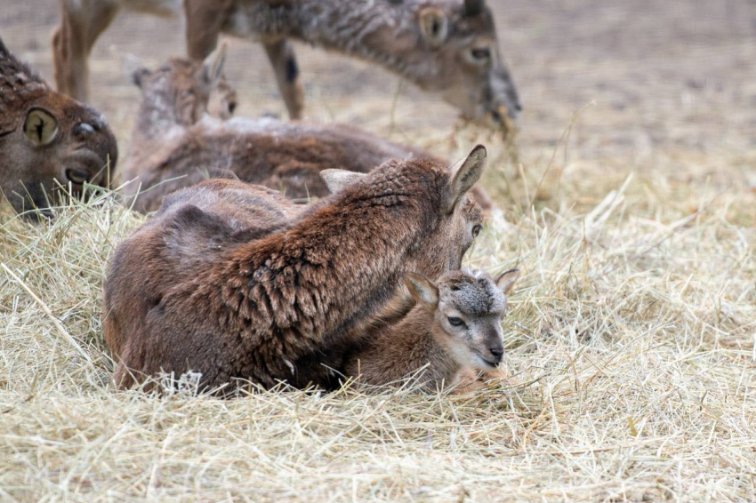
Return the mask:
M 13 209 L 50 216 L 55 180 L 75 195 L 104 185 L 117 156 L 101 114 L 51 91 L 0 39 L 0 189 Z

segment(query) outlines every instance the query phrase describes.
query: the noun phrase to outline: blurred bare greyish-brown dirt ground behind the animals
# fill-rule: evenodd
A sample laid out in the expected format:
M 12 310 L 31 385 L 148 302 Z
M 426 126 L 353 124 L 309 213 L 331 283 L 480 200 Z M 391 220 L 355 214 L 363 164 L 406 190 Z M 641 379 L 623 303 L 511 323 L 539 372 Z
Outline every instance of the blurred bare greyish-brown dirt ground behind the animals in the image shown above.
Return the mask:
M 579 110 L 570 159 L 612 163 L 611 171 L 623 169 L 614 164 L 647 170 L 672 149 L 727 155 L 756 148 L 752 0 L 490 4 L 525 107 L 518 140 L 523 160 L 550 155 Z M 52 0 L 5 0 L 0 12 L 0 36 L 48 79 L 49 36 L 58 17 Z M 261 47 L 230 42 L 227 73 L 241 97 L 238 115 L 286 116 Z M 122 52 L 153 68 L 183 54 L 182 21 L 125 13 L 94 48 L 92 101 L 126 146 L 139 94 L 119 64 Z M 307 46 L 298 54 L 309 118 L 449 150 L 442 140 L 452 134 L 452 108 L 410 84 L 398 89 L 398 77 L 366 63 Z

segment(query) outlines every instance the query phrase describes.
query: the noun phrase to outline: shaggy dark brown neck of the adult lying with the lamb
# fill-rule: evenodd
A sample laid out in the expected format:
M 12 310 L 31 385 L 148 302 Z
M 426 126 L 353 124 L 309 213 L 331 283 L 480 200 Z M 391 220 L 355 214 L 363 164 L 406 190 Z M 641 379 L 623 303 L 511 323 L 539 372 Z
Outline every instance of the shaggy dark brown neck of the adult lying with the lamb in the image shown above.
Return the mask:
M 434 176 L 429 170 L 422 180 L 374 180 L 370 187 L 325 200 L 285 232 L 230 251 L 213 277 L 229 302 L 248 303 L 249 310 L 261 308 L 264 294 L 272 312 L 293 320 L 288 330 L 317 338 L 367 326 L 401 276 L 420 268 L 420 244 L 428 241 L 440 204 L 431 188 L 437 181 L 427 178 Z M 407 194 L 411 189 L 402 190 L 400 183 L 427 192 Z M 376 187 L 385 192 L 376 193 Z M 359 190 L 372 194 L 361 196 Z M 245 287 L 229 290 L 229 284 Z

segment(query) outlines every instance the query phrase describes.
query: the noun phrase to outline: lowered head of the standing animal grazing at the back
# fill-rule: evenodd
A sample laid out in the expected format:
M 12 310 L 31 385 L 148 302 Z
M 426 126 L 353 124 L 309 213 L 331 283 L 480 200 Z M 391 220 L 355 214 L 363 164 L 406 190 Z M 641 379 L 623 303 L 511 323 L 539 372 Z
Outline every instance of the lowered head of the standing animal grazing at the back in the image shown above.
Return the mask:
M 502 125 L 516 119 L 522 107 L 486 1 L 405 1 L 416 9 L 424 45 L 422 58 L 406 69 L 416 74 L 416 84 L 479 122 Z

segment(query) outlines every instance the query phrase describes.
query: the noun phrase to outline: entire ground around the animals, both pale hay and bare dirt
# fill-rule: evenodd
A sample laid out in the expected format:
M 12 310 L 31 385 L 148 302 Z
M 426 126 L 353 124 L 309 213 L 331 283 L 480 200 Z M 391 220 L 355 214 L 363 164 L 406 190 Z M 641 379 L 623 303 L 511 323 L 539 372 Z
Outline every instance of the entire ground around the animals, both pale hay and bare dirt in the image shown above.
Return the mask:
M 398 78 L 298 47 L 307 116 L 440 155 L 487 144 L 495 212 L 469 254 L 523 279 L 510 381 L 471 395 L 117 392 L 101 282 L 143 221 L 99 196 L 54 224 L 0 217 L 0 500 L 756 500 L 756 2 L 489 0 L 524 114 L 513 144 Z M 47 78 L 52 0 L 0 0 Z M 124 15 L 92 54 L 126 151 L 180 20 Z M 239 116 L 284 115 L 232 40 Z M 393 111 L 393 112 L 392 112 Z

